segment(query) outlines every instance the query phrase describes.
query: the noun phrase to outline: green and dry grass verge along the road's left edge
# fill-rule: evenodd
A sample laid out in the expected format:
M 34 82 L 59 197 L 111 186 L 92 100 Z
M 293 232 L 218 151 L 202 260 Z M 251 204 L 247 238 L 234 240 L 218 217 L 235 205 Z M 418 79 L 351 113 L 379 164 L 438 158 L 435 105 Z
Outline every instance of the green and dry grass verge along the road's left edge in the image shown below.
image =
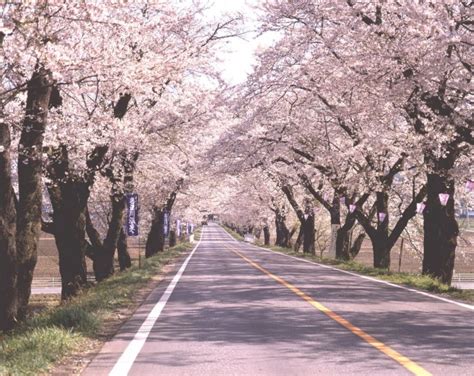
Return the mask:
M 85 290 L 61 306 L 50 308 L 0 337 L 0 375 L 36 375 L 55 362 L 80 351 L 97 338 L 105 320 L 113 312 L 133 304 L 138 289 L 144 287 L 162 267 L 191 248 L 180 243 Z

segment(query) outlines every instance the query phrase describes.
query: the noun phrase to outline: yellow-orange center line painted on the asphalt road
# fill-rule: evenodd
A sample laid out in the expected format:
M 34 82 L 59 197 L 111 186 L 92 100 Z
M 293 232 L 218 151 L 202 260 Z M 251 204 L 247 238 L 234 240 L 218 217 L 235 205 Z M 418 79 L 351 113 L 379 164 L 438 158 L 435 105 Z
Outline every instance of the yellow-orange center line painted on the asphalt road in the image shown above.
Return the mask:
M 303 300 L 307 301 L 309 304 L 311 304 L 314 308 L 317 310 L 321 311 L 325 315 L 327 315 L 329 318 L 333 319 L 336 321 L 338 324 L 342 325 L 344 328 L 348 329 L 352 333 L 354 333 L 356 336 L 362 338 L 365 342 L 367 342 L 369 345 L 375 347 L 377 350 L 381 351 L 388 357 L 392 358 L 395 360 L 397 363 L 405 367 L 407 370 L 412 372 L 414 375 L 417 376 L 428 376 L 431 375 L 430 372 L 425 370 L 423 367 L 412 361 L 411 359 L 407 358 L 406 356 L 400 354 L 399 352 L 395 351 L 392 349 L 390 346 L 387 346 L 383 342 L 380 342 L 378 339 L 372 337 L 370 334 L 367 334 L 364 332 L 362 329 L 358 328 L 357 326 L 351 324 L 349 321 L 347 321 L 344 317 L 338 315 L 334 311 L 331 311 L 328 307 L 325 305 L 319 303 L 318 301 L 314 300 L 311 298 L 309 295 L 305 294 L 303 291 L 301 291 L 298 287 L 292 285 L 291 283 L 285 281 L 283 278 L 278 277 L 277 275 L 269 272 L 266 270 L 264 267 L 260 266 L 257 264 L 255 261 L 252 261 L 239 251 L 233 248 L 228 248 L 232 252 L 234 252 L 236 255 L 247 261 L 250 265 L 252 265 L 255 269 L 260 270 L 262 273 L 266 274 L 270 278 L 274 279 L 281 285 L 285 286 L 287 289 L 291 290 L 293 293 L 301 297 Z

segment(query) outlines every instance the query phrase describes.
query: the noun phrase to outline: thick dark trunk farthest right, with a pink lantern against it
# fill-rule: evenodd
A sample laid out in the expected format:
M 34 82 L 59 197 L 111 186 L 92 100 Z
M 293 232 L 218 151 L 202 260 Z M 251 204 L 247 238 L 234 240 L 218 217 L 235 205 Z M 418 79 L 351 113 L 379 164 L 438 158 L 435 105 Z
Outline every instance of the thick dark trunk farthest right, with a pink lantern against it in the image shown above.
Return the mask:
M 428 174 L 426 188 L 423 274 L 450 284 L 459 234 L 454 213 L 454 180 L 440 174 Z M 440 203 L 440 193 L 449 194 L 446 206 Z

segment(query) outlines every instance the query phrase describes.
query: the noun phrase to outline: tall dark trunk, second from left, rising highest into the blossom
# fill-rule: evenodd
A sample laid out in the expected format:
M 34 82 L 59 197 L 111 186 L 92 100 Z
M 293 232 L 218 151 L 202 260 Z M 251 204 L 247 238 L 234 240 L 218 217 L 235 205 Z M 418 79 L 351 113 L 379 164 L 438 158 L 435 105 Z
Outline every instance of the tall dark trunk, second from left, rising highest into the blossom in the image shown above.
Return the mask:
M 18 315 L 24 318 L 38 259 L 41 234 L 43 138 L 51 96 L 51 74 L 37 69 L 28 83 L 26 116 L 18 148 L 17 263 Z

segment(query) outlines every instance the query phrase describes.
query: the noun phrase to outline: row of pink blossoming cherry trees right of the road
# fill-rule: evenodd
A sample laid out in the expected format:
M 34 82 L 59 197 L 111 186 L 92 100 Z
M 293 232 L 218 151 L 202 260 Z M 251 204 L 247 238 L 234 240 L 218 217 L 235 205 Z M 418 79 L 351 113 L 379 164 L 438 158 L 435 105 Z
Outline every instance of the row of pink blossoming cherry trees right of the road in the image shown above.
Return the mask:
M 237 124 L 214 150 L 227 152 L 222 170 L 253 182 L 278 244 L 290 208 L 295 248 L 312 252 L 322 208 L 336 257 L 368 237 L 375 267 L 390 265 L 418 210 L 423 273 L 450 283 L 455 209 L 472 205 L 474 176 L 468 2 L 273 0 L 260 11 L 275 42 L 236 91 Z

